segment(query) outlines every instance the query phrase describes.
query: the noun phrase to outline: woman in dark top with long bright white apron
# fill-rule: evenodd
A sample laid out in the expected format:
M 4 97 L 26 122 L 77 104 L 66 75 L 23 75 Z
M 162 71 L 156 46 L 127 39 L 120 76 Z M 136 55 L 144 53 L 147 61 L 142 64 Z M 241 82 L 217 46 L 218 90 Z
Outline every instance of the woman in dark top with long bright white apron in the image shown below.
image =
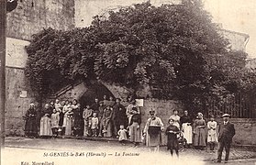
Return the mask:
M 184 115 L 181 117 L 181 128 L 186 140 L 186 146 L 190 147 L 193 137 L 192 118 L 188 115 L 187 111 L 184 111 Z

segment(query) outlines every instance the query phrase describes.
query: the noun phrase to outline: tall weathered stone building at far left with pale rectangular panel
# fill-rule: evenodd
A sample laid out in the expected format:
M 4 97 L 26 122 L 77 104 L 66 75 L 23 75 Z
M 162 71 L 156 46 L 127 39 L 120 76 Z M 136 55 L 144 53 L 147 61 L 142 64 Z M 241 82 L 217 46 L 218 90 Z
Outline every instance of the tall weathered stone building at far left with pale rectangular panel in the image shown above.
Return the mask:
M 34 93 L 26 82 L 24 68 L 28 55 L 25 46 L 31 35 L 43 28 L 74 28 L 73 0 L 18 0 L 6 17 L 6 135 L 23 135 L 28 104 Z

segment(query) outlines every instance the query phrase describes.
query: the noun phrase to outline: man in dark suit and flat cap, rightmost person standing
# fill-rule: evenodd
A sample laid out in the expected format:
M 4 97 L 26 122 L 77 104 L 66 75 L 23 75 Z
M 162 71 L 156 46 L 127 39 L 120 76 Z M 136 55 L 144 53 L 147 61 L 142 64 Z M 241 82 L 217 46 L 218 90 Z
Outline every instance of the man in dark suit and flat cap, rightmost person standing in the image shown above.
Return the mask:
M 230 115 L 228 114 L 222 115 L 224 121 L 218 127 L 219 146 L 217 149 L 217 162 L 221 162 L 222 151 L 223 151 L 223 148 L 225 148 L 226 150 L 225 163 L 228 163 L 230 145 L 232 143 L 232 138 L 236 134 L 235 126 L 228 121 L 229 116 Z

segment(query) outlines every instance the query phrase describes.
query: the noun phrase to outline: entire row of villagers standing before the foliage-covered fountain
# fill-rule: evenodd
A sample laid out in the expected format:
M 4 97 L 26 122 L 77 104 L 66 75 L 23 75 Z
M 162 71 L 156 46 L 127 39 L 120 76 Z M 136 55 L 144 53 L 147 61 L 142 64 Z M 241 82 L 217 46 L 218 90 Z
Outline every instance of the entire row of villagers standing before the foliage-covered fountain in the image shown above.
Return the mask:
M 38 134 L 37 115 L 35 104 L 29 104 L 24 116 L 25 134 L 28 137 Z M 217 129 L 214 116 L 206 123 L 202 113 L 198 113 L 193 119 L 187 111 L 180 117 L 175 109 L 169 117 L 169 126 L 164 128 L 161 118 L 151 110 L 150 118 L 142 129 L 139 106 L 134 99 L 130 98 L 127 106 L 124 106 L 119 98 L 114 101 L 110 96 L 107 100 L 104 95 L 102 101 L 95 98 L 95 103 L 86 104 L 83 110 L 75 99 L 61 103 L 56 99 L 55 103 L 51 101 L 50 104 L 45 104 L 40 113 L 39 136 L 118 137 L 123 145 L 128 139 L 134 143 L 134 147 L 145 141 L 150 150 L 154 148 L 157 151 L 161 145 L 161 132 L 165 130 L 167 148 L 171 150 L 172 155 L 174 150 L 178 156 L 181 140 L 184 140 L 184 147 L 193 145 L 198 149 L 204 149 L 208 142 L 210 149 L 214 150 L 219 143 L 217 159 L 220 161 L 223 148 L 226 149 L 228 160 L 230 144 L 235 135 L 234 125 L 228 122 L 228 116 L 223 115 L 224 123 Z

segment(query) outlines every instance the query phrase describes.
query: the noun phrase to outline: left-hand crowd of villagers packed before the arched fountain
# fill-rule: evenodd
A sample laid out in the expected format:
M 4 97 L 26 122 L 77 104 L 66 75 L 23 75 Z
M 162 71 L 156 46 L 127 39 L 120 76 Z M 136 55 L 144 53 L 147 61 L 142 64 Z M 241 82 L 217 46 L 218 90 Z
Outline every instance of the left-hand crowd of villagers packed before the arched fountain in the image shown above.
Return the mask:
M 129 98 L 127 106 L 121 104 L 121 99 L 103 100 L 95 98 L 93 104 L 81 107 L 77 100 L 62 101 L 56 99 L 45 104 L 38 113 L 35 104 L 29 104 L 24 116 L 26 119 L 25 134 L 28 137 L 37 135 L 37 115 L 39 115 L 39 136 L 85 136 L 85 137 L 120 137 L 127 131 L 132 121 L 132 115 L 139 114 L 139 106 L 134 99 Z M 122 135 L 122 136 L 121 136 Z M 129 136 L 127 131 L 127 136 Z

